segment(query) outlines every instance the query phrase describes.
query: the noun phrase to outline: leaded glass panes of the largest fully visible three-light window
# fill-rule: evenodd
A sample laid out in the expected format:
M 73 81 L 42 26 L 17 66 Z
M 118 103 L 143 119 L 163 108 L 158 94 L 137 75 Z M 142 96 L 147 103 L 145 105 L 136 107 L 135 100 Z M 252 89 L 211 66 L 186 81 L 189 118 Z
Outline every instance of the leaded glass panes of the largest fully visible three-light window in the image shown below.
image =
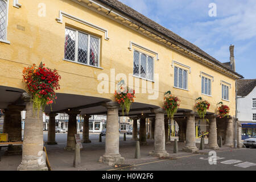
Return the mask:
M 65 28 L 65 60 L 100 67 L 100 39 Z

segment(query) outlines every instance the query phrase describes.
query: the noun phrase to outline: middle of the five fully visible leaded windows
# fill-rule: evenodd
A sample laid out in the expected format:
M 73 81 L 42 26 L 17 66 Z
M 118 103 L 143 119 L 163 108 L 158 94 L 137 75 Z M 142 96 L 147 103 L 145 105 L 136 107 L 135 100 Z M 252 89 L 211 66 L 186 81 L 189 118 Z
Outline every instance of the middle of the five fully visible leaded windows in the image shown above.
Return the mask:
M 188 89 L 188 71 L 174 67 L 174 86 L 180 89 Z

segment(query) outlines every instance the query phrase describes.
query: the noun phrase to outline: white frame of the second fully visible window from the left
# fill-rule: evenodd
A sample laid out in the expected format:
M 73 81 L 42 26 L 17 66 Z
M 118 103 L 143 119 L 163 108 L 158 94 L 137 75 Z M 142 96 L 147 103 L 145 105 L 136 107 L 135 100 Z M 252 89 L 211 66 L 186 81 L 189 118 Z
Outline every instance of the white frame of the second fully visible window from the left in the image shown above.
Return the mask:
M 134 52 L 137 51 L 139 53 L 139 76 L 134 75 Z M 144 54 L 146 55 L 146 78 L 143 78 L 141 76 L 141 55 Z M 152 58 L 152 80 L 149 79 L 148 76 L 148 57 Z M 138 49 L 133 49 L 133 76 L 137 77 L 137 78 L 141 78 L 143 80 L 147 80 L 147 81 L 151 81 L 151 82 L 155 82 L 155 57 L 148 55 L 147 53 L 144 53 L 142 51 L 139 51 Z

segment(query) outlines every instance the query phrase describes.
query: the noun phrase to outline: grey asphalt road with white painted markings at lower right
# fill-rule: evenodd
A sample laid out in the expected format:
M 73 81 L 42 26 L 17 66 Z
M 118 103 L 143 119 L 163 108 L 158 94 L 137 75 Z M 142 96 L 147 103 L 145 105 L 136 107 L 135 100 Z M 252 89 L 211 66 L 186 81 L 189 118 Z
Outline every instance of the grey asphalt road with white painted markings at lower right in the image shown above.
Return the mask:
M 174 159 L 158 160 L 132 167 L 124 167 L 114 170 L 127 171 L 255 171 L 256 170 L 256 148 L 238 149 L 217 152 L 217 164 L 209 164 L 209 155 L 188 154 Z M 110 169 L 111 170 L 111 169 Z M 113 170 L 113 169 L 112 169 Z

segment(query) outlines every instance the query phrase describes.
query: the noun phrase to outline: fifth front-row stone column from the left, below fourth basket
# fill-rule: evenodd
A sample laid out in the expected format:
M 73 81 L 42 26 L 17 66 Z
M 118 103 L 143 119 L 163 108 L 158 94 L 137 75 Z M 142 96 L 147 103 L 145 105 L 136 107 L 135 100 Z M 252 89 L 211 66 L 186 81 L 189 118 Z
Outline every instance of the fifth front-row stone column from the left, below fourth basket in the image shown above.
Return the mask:
M 216 125 L 217 117 L 218 117 L 217 114 L 211 114 L 208 117 L 210 121 L 210 126 L 209 126 L 208 144 L 206 147 L 213 150 L 219 149 L 218 142 L 217 142 L 217 125 Z

